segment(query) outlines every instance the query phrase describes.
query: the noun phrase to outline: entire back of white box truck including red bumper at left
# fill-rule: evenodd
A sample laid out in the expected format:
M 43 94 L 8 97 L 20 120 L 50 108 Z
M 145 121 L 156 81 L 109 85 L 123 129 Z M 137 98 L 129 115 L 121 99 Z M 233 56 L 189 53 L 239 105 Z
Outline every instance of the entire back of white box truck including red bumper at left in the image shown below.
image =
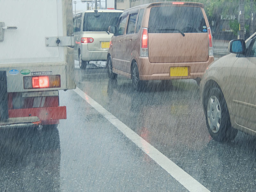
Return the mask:
M 0 127 L 66 119 L 74 70 L 72 0 L 0 0 Z

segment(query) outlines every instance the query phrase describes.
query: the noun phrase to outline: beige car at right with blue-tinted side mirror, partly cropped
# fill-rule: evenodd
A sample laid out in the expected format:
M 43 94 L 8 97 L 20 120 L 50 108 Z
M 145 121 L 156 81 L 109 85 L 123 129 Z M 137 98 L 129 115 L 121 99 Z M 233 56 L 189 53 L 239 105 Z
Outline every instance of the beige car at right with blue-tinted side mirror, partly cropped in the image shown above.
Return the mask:
M 214 140 L 237 131 L 256 136 L 256 33 L 229 42 L 226 55 L 206 69 L 200 84 L 206 124 Z

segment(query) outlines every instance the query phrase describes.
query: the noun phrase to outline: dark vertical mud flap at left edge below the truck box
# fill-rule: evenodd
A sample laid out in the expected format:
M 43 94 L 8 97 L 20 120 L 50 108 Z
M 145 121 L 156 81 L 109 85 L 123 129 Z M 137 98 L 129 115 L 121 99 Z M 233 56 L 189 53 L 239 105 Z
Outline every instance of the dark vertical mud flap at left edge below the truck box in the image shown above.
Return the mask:
M 8 119 L 6 71 L 0 71 L 0 122 Z

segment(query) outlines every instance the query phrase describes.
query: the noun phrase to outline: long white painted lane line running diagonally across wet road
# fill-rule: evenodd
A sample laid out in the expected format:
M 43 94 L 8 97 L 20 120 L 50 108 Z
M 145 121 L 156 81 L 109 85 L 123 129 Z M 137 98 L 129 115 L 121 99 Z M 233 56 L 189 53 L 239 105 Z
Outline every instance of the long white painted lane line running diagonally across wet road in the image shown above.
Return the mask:
M 157 164 L 159 164 L 165 171 L 167 171 L 174 179 L 176 179 L 181 185 L 188 189 L 190 192 L 210 192 L 201 183 L 195 180 L 187 172 L 181 169 L 178 165 L 173 163 L 164 154 L 150 145 L 146 140 L 140 137 L 137 133 L 132 131 L 128 126 L 122 123 L 119 119 L 109 113 L 99 103 L 93 100 L 90 96 L 84 93 L 81 89 L 76 87 L 74 90 L 80 97 L 82 97 L 87 103 L 95 108 L 101 115 L 103 115 L 110 123 L 116 126 L 126 137 L 132 140 L 139 148 L 141 148 L 148 156 L 150 156 Z

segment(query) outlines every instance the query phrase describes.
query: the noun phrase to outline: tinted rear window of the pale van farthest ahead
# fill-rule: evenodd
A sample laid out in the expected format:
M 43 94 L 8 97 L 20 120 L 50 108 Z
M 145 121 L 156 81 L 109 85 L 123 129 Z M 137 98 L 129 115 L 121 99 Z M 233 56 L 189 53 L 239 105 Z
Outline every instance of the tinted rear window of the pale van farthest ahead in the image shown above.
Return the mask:
M 83 31 L 108 31 L 110 25 L 116 26 L 121 12 L 84 13 Z

